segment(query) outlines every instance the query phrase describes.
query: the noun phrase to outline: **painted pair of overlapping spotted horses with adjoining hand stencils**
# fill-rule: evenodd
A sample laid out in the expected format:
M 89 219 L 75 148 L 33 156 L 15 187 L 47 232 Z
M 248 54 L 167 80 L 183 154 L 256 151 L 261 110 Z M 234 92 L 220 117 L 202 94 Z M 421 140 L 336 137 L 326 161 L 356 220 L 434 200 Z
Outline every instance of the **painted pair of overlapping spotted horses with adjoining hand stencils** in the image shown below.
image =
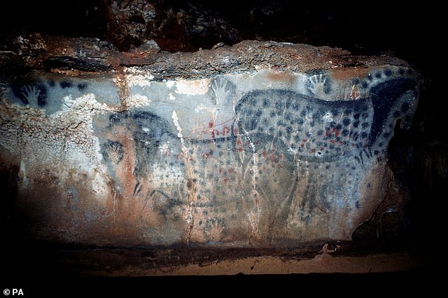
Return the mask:
M 175 105 L 165 113 L 172 119 L 145 107 L 110 114 L 102 157 L 129 196 L 143 198 L 165 225 L 188 222 L 191 241 L 308 239 L 310 226 L 338 235 L 331 229 L 348 218 L 341 214 L 364 207 L 358 181 L 384 160 L 397 121 L 411 124 L 417 88 L 400 69 L 386 68 L 350 82 L 357 99 L 328 100 L 336 88 L 328 74 L 307 80 L 307 94 L 259 89 L 236 98 L 234 83 L 213 78 L 213 104 L 235 104 L 225 133 L 210 126 L 213 138 L 184 138 Z M 131 170 L 133 184 L 117 169 Z

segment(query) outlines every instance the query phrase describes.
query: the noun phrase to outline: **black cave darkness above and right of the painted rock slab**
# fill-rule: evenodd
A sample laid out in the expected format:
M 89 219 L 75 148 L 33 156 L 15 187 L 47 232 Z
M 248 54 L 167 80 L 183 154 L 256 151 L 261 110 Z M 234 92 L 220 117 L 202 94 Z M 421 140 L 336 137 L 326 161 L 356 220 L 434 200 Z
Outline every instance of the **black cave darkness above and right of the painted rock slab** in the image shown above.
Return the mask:
M 320 1 L 11 1 L 0 11 L 0 51 L 11 36 L 41 32 L 65 37 L 98 37 L 119 51 L 141 49 L 155 40 L 162 51 L 194 52 L 223 42 L 273 40 L 340 47 L 354 55 L 396 56 L 420 76 L 420 100 L 413 127 L 396 130 L 389 160 L 396 179 L 410 193 L 403 217 L 387 215 L 382 237 L 367 222 L 355 241 L 367 249 L 422 252 L 435 263 L 444 238 L 447 191 L 447 100 L 441 75 L 442 5 L 390 1 L 325 4 Z M 142 8 L 150 13 L 143 13 Z M 143 9 L 143 11 L 144 11 Z M 1 177 L 5 184 L 8 177 Z M 8 232 L 13 237 L 13 231 Z

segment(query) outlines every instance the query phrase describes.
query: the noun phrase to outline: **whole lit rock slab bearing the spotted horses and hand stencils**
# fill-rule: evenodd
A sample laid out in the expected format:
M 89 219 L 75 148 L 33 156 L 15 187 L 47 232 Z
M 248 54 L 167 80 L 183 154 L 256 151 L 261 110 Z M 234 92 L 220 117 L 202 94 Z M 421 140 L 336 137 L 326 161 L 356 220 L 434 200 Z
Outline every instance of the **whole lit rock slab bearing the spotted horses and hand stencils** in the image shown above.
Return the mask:
M 350 240 L 385 197 L 403 203 L 387 148 L 417 107 L 405 61 L 278 42 L 15 42 L 0 55 L 1 164 L 35 237 L 297 246 Z

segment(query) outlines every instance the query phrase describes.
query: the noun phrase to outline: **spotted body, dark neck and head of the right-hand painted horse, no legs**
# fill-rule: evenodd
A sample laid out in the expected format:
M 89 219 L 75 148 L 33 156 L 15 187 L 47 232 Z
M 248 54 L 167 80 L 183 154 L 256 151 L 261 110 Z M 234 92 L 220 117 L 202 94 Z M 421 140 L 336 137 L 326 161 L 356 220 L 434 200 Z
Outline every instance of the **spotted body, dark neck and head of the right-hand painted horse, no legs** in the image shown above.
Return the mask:
M 326 101 L 290 90 L 254 90 L 235 108 L 237 125 L 247 135 L 281 140 L 301 160 L 332 162 L 348 155 L 384 153 L 395 122 L 413 114 L 415 83 L 396 79 L 371 89 L 360 100 Z M 408 93 L 406 93 L 408 92 Z

